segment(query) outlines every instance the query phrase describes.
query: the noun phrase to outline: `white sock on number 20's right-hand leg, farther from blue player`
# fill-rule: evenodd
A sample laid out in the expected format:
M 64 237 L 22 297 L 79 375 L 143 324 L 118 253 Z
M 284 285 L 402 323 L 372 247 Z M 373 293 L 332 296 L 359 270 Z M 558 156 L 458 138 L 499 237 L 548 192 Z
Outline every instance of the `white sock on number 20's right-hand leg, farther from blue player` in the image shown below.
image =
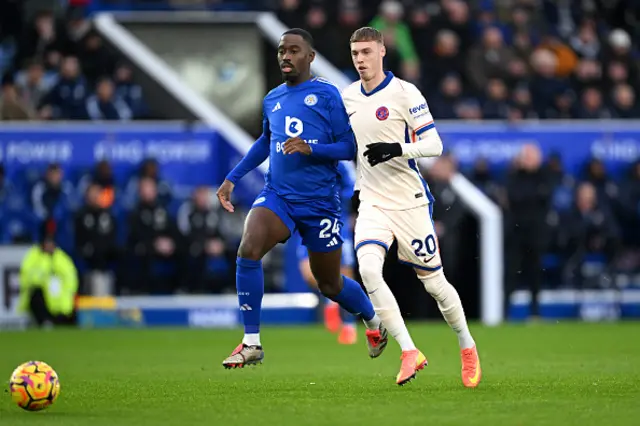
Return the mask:
M 427 292 L 438 302 L 438 308 L 449 326 L 458 335 L 460 349 L 472 348 L 475 345 L 469 332 L 462 302 L 456 289 L 447 281 L 442 271 L 426 277 L 418 276 Z

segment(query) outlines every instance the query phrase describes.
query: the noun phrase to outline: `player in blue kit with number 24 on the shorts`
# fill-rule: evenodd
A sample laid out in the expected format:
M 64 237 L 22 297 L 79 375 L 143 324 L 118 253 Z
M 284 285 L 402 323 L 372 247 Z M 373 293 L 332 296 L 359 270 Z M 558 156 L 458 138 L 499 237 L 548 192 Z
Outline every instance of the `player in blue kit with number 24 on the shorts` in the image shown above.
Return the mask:
M 278 62 L 285 80 L 263 101 L 263 133 L 227 175 L 217 195 L 233 212 L 234 185 L 270 158 L 265 187 L 245 222 L 236 261 L 236 287 L 244 323 L 242 343 L 225 368 L 262 362 L 260 311 L 264 294 L 261 259 L 276 244 L 299 232 L 309 250 L 311 271 L 322 294 L 364 321 L 369 356 L 387 345 L 387 331 L 356 281 L 340 274 L 342 237 L 338 161 L 352 160 L 356 144 L 339 90 L 311 76 L 313 39 L 302 29 L 285 32 Z

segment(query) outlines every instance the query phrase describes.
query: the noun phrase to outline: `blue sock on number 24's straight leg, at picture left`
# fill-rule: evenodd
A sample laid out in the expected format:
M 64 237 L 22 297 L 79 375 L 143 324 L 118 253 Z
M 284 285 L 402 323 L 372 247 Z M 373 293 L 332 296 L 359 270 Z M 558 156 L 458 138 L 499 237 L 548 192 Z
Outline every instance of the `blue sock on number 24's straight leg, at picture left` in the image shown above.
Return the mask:
M 262 261 L 236 259 L 236 289 L 245 334 L 260 333 L 260 312 L 264 295 Z

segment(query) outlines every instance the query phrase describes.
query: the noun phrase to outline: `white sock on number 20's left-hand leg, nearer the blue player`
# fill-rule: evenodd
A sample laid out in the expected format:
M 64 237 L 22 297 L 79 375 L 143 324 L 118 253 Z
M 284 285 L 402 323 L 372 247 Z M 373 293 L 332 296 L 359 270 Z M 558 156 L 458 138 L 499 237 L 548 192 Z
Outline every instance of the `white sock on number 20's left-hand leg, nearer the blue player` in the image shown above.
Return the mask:
M 404 319 L 402 319 L 398 302 L 382 278 L 385 255 L 384 249 L 380 246 L 373 244 L 362 246 L 358 250 L 360 275 L 375 308 L 376 318 L 380 317 L 379 320 L 396 339 L 403 351 L 413 350 L 416 346 L 409 335 Z M 367 328 L 370 328 L 369 325 Z

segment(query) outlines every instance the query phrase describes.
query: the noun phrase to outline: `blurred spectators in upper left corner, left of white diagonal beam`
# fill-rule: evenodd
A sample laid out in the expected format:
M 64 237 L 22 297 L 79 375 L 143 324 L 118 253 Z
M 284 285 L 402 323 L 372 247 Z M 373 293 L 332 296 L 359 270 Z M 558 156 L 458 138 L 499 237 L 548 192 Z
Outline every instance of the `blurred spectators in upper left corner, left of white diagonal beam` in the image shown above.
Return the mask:
M 104 43 L 82 5 L 59 13 L 28 13 L 26 5 L 0 1 L 0 120 L 146 117 L 132 67 Z

